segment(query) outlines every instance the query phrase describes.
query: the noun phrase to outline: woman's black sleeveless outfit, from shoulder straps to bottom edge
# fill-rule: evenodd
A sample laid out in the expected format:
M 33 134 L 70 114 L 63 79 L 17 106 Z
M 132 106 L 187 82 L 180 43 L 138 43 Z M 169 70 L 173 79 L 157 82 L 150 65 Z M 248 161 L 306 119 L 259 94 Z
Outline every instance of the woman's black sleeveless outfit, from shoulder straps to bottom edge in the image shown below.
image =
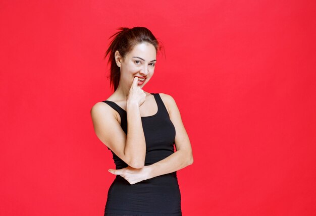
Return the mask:
M 176 136 L 175 127 L 159 93 L 151 94 L 154 96 L 158 110 L 152 116 L 141 117 L 146 141 L 145 166 L 154 164 L 174 153 Z M 113 101 L 102 102 L 107 103 L 120 114 L 121 127 L 127 134 L 126 111 Z M 111 152 L 116 169 L 128 167 L 112 150 Z M 182 215 L 177 172 L 156 176 L 133 185 L 120 175 L 116 175 L 108 191 L 104 215 Z

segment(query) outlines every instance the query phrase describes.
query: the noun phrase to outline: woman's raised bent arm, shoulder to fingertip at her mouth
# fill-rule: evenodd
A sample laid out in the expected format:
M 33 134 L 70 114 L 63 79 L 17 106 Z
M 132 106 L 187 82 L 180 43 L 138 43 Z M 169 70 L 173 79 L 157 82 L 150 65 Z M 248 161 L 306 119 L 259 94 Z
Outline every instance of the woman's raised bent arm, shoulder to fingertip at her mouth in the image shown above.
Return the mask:
M 127 135 L 119 124 L 112 107 L 97 102 L 91 109 L 96 136 L 130 167 L 140 169 L 145 165 L 146 142 L 139 106 L 146 94 L 137 87 L 135 78 L 126 103 Z

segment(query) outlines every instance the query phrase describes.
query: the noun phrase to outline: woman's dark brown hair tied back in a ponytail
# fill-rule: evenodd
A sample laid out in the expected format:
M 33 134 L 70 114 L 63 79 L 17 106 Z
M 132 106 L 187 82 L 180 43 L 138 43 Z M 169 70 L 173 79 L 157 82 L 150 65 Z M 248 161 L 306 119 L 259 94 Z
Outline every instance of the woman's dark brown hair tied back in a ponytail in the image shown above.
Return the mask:
M 151 31 L 145 27 L 134 27 L 134 28 L 126 28 L 121 27 L 118 28 L 118 32 L 113 34 L 110 38 L 114 37 L 110 42 L 109 48 L 106 51 L 106 55 L 109 56 L 108 64 L 110 64 L 110 85 L 114 89 L 117 89 L 121 77 L 120 68 L 117 66 L 115 61 L 115 51 L 118 50 L 120 55 L 124 58 L 128 52 L 130 52 L 135 45 L 139 43 L 150 43 L 152 44 L 156 51 L 162 50 L 163 46 L 161 45 L 161 41 L 158 41 L 155 36 L 151 33 Z M 110 39 L 109 38 L 109 39 Z

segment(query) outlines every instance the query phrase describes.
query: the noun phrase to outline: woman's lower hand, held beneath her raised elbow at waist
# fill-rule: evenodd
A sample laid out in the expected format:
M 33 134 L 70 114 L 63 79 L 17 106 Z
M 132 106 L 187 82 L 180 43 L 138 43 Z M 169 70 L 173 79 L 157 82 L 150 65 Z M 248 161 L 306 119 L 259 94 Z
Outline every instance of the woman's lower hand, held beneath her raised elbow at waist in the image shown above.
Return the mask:
M 141 182 L 143 180 L 149 179 L 150 167 L 144 166 L 141 169 L 132 168 L 130 166 L 119 169 L 119 170 L 109 170 L 110 173 L 114 175 L 120 175 L 126 179 L 131 185 Z

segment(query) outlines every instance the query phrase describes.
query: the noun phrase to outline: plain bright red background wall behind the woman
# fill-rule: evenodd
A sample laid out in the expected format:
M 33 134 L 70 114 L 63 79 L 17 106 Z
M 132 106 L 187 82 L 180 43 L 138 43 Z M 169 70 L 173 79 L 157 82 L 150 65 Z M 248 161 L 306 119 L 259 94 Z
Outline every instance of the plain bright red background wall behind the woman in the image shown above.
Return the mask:
M 193 148 L 183 215 L 316 215 L 314 1 L 1 1 L 1 215 L 103 215 L 115 176 L 90 109 L 121 26 L 163 41 L 147 92 Z

